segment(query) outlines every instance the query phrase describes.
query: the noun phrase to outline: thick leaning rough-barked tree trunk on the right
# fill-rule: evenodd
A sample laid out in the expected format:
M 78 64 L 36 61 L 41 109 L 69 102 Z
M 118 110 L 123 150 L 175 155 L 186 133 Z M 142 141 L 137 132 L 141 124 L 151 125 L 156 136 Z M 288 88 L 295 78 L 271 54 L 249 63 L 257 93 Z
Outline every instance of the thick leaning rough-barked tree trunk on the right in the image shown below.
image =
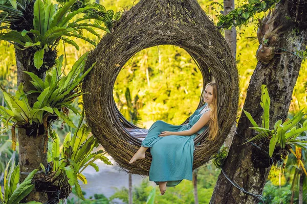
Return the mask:
M 306 11 L 306 1 L 297 3 L 282 0 L 272 14 L 260 24 L 261 27 L 257 32 L 260 43 L 257 52 L 258 63 L 247 89 L 243 109 L 252 115 L 257 124 L 261 124 L 260 117 L 263 112 L 259 104 L 261 85 L 267 85 L 271 98 L 270 129 L 277 120 L 284 121 L 287 118 L 291 95 L 302 62 L 302 59 L 293 53 L 306 48 L 307 19 L 304 18 Z M 294 30 L 296 28 L 299 28 L 299 32 Z M 250 143 L 242 145 L 246 142 L 243 138 L 250 139 L 256 135 L 250 126 L 252 125 L 248 118 L 242 114 L 223 169 L 229 179 L 236 182 L 240 188 L 253 194 L 261 194 L 272 162 L 263 150 Z M 262 139 L 255 143 L 268 152 L 267 140 Z M 274 151 L 273 160 L 280 161 L 281 158 L 276 155 L 276 151 L 278 148 Z M 258 201 L 256 197 L 240 192 L 221 173 L 210 203 L 257 203 Z

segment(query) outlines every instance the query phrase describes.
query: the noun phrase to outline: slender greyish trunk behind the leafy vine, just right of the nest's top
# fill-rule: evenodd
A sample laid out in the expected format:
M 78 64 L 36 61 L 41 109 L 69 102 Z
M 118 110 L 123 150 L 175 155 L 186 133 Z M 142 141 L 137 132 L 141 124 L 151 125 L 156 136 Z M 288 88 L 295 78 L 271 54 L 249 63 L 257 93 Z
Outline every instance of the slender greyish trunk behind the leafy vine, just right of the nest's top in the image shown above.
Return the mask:
M 234 0 L 224 0 L 224 15 L 227 15 L 234 9 Z M 231 49 L 232 56 L 236 58 L 236 30 L 232 27 L 231 30 L 225 30 L 225 40 Z

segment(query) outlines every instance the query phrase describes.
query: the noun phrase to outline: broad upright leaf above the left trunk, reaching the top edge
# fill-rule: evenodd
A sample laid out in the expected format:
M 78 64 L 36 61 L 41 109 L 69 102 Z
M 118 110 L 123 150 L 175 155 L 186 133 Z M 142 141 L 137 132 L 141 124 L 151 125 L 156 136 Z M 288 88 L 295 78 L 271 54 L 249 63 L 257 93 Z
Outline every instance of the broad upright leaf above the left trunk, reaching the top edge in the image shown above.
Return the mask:
M 36 0 L 34 3 L 34 18 L 33 26 L 34 29 L 39 31 L 40 35 L 46 32 L 45 28 L 45 6 L 42 0 Z

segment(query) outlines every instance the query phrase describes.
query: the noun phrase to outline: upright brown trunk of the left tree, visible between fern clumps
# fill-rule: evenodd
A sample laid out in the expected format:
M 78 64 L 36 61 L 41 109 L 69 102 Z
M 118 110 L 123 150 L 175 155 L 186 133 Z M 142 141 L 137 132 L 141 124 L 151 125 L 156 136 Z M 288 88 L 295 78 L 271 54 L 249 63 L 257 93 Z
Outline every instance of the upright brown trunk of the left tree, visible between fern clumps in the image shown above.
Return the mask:
M 39 74 L 36 71 L 34 65 L 31 66 L 30 58 L 33 58 L 33 55 L 25 58 L 24 55 L 20 54 L 19 50 L 15 50 L 16 55 L 16 65 L 17 65 L 17 85 L 24 83 L 24 91 L 35 90 L 35 87 L 30 83 L 32 80 L 30 76 L 23 71 L 31 71 L 35 74 L 38 74 L 41 79 L 45 79 L 45 74 Z M 27 66 L 29 65 L 29 66 Z M 28 95 L 29 105 L 33 107 L 37 98 L 36 94 Z M 25 128 L 18 128 L 18 142 L 19 142 L 19 166 L 20 172 L 31 172 L 34 169 L 41 170 L 40 163 L 47 167 L 47 151 L 44 152 L 44 148 L 47 150 L 46 140 L 46 131 L 43 125 L 37 125 L 37 123 L 32 123 L 31 126 L 25 126 Z M 19 182 L 23 182 L 26 179 L 27 175 L 20 173 Z M 32 182 L 36 182 L 44 177 L 43 173 L 36 174 L 33 177 Z M 40 192 L 40 189 L 34 188 L 34 190 L 23 200 L 27 201 L 39 201 L 46 202 L 48 201 L 48 194 L 46 192 Z

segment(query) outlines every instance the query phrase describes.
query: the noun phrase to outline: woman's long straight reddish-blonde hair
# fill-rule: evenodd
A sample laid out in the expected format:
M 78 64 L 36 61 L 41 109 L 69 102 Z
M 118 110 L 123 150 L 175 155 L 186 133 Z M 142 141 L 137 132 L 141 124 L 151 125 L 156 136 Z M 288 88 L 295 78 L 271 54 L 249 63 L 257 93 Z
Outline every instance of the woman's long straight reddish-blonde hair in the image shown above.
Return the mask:
M 213 89 L 213 99 L 210 103 L 210 121 L 209 121 L 209 137 L 208 140 L 213 141 L 218 135 L 218 131 L 220 128 L 218 127 L 218 121 L 217 121 L 217 85 L 215 82 L 210 82 L 206 85 L 212 86 Z

